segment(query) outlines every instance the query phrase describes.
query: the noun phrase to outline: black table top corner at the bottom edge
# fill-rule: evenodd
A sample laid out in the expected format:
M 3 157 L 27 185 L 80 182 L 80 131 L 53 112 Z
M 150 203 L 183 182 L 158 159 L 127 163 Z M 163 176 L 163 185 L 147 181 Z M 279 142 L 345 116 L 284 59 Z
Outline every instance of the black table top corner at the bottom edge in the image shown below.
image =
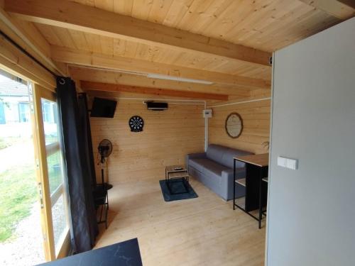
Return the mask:
M 42 266 L 142 266 L 137 238 L 65 257 Z

